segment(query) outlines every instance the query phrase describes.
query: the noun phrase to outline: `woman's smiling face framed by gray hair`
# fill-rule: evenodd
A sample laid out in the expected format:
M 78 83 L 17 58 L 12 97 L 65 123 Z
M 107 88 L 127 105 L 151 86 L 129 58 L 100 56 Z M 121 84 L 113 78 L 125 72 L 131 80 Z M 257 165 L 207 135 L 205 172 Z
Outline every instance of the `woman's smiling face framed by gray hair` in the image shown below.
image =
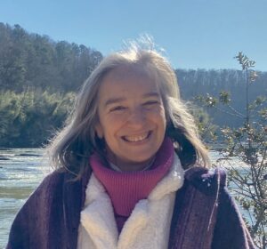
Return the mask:
M 162 144 L 166 116 L 158 85 L 142 68 L 113 69 L 98 92 L 99 123 L 107 157 L 123 171 L 142 170 Z

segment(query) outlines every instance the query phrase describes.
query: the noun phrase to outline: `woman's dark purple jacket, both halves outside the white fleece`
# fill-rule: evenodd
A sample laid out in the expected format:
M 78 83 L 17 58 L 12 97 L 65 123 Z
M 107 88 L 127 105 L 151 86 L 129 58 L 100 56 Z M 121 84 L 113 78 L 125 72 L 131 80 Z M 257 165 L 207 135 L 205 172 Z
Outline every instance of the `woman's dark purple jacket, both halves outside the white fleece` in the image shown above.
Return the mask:
M 65 171 L 48 175 L 20 209 L 6 248 L 75 249 L 80 212 L 91 171 L 79 181 Z M 255 248 L 237 206 L 225 187 L 225 173 L 201 167 L 185 172 L 176 193 L 170 249 Z

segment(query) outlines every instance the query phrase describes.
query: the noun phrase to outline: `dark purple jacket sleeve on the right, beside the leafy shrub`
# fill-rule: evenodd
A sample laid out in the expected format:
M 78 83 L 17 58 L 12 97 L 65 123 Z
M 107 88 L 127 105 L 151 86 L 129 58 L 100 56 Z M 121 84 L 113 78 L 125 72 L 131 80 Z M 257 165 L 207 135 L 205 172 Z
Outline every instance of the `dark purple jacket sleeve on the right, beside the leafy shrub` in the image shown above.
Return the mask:
M 238 206 L 226 187 L 219 194 L 218 213 L 214 228 L 213 249 L 254 249 Z

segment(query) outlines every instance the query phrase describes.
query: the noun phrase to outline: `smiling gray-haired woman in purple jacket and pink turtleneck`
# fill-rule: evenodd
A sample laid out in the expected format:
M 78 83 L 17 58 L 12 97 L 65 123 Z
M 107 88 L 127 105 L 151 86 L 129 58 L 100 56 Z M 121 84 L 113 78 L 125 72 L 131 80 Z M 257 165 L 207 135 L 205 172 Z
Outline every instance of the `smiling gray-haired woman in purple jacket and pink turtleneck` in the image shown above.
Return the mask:
M 254 248 L 158 52 L 102 60 L 51 151 L 7 248 Z

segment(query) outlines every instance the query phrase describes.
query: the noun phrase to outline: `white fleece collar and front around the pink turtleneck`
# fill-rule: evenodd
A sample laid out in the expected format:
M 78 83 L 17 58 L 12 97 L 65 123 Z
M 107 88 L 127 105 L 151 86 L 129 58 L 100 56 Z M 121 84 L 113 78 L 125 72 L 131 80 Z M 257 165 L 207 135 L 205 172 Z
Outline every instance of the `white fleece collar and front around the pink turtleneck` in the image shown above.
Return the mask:
M 147 199 L 135 205 L 118 235 L 110 198 L 92 173 L 85 191 L 77 248 L 167 248 L 175 191 L 182 187 L 183 179 L 182 165 L 174 155 L 170 172 L 158 182 Z

